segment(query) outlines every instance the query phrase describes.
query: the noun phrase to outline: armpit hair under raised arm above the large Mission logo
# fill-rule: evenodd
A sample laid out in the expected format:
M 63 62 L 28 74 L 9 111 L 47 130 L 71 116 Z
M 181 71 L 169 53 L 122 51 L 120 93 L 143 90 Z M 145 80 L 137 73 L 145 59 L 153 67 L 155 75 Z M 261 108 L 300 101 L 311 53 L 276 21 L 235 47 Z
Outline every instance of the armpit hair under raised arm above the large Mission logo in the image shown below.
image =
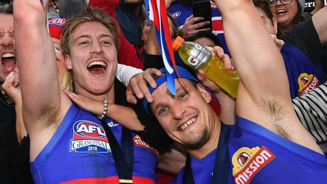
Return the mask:
M 292 140 L 288 133 L 287 125 L 284 118 L 284 113 L 282 112 L 282 107 L 279 101 L 272 94 L 267 94 L 261 97 L 261 106 L 263 108 L 264 116 L 274 127 L 274 132 L 278 135 Z

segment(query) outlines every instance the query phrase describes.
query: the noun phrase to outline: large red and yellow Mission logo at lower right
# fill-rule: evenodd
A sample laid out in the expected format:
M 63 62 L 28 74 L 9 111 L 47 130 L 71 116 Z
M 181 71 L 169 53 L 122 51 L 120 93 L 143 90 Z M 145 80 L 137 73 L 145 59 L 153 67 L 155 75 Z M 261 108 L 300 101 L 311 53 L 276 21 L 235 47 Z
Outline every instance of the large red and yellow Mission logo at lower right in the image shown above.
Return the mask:
M 265 146 L 242 147 L 232 157 L 234 183 L 247 184 L 276 156 Z

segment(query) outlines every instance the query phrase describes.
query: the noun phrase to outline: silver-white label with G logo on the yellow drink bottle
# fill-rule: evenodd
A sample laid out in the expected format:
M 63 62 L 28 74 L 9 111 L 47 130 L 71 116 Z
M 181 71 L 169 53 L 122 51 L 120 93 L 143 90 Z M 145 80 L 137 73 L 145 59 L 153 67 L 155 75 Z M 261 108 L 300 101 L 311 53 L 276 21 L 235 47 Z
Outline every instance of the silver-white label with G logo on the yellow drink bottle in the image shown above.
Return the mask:
M 198 69 L 211 57 L 211 52 L 200 44 L 195 44 L 190 55 L 186 58 L 193 69 Z

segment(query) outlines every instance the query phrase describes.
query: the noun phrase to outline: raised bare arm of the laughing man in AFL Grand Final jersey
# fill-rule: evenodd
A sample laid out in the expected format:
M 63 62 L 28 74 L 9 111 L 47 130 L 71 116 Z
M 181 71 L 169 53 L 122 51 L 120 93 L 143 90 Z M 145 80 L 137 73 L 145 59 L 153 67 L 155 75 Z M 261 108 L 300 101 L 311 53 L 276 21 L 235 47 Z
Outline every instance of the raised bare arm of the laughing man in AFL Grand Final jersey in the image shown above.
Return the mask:
M 59 107 L 64 109 L 61 106 L 54 46 L 45 21 L 48 2 L 44 1 L 44 5 L 39 0 L 14 3 L 14 33 L 20 70 L 22 111 L 30 136 L 60 122 L 62 113 Z

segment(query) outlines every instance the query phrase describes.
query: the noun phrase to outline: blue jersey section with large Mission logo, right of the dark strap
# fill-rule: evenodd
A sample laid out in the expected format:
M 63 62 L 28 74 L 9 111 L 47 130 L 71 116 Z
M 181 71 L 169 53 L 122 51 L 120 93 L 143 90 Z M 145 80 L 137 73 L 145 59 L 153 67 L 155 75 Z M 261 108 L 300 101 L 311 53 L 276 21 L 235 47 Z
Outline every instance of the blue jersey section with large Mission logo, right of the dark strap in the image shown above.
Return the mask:
M 250 120 L 237 117 L 229 135 L 234 183 L 326 183 L 322 155 Z

